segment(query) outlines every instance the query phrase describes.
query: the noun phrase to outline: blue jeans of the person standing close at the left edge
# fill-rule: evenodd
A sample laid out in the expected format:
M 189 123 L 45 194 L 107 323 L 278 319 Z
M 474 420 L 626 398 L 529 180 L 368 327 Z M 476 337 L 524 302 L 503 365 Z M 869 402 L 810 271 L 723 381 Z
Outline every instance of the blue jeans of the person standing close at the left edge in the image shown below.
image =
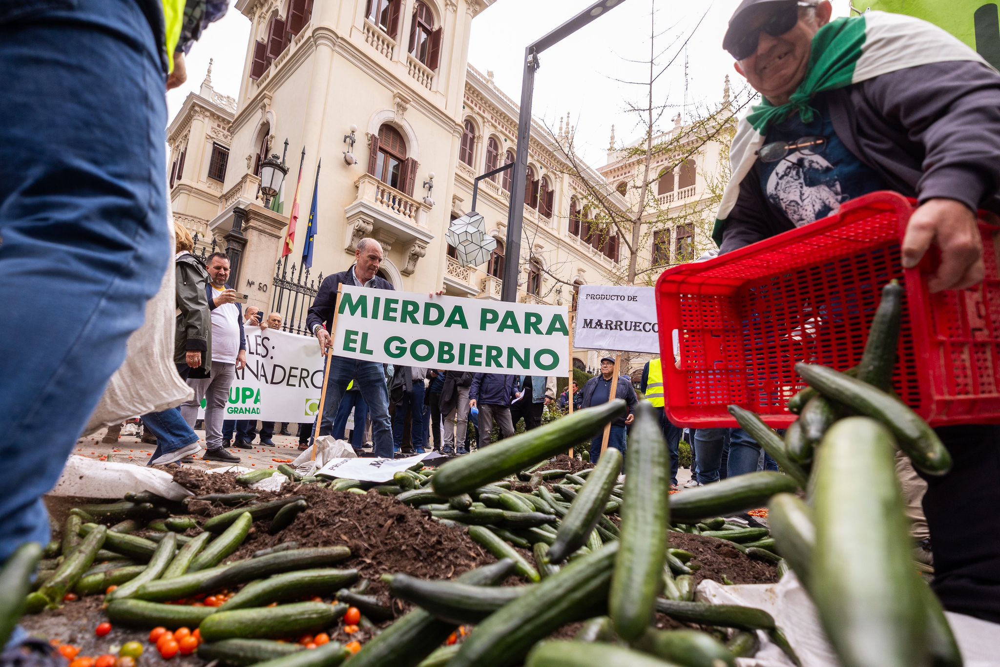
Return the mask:
M 34 4 L 0 4 L 0 563 L 48 542 L 42 494 L 171 253 L 166 75 L 139 4 Z

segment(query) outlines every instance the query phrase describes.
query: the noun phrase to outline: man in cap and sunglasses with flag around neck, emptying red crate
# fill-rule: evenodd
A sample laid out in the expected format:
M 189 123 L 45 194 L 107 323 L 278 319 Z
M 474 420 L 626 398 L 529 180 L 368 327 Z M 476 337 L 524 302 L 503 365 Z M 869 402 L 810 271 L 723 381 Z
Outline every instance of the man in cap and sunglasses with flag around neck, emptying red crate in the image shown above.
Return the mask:
M 1000 74 L 924 21 L 830 15 L 826 1 L 744 0 L 729 21 L 723 48 L 764 99 L 733 140 L 720 253 L 894 190 L 919 202 L 903 266 L 934 246 L 932 291 L 979 283 L 975 211 L 1000 212 Z M 954 466 L 923 501 L 934 590 L 950 611 L 1000 622 L 1000 427 L 937 431 Z

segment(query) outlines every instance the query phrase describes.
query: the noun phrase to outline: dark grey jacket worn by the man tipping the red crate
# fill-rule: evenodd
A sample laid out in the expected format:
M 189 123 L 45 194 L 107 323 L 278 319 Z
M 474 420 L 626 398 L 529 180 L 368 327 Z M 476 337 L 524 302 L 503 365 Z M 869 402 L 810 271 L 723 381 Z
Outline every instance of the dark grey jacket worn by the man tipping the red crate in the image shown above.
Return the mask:
M 834 131 L 886 187 L 1000 212 L 1000 74 L 974 61 L 920 65 L 824 93 Z M 720 254 L 793 229 L 756 170 L 740 183 Z

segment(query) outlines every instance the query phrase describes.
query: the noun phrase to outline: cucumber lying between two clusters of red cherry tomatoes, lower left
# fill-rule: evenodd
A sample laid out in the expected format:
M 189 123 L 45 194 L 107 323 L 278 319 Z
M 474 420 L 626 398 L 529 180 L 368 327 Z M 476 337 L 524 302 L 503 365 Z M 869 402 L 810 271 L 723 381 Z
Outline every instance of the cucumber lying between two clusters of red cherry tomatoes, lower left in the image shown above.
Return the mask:
M 347 611 L 347 605 L 330 606 L 322 602 L 295 602 L 253 609 L 219 611 L 198 626 L 206 642 L 243 637 L 271 639 L 300 637 L 324 630 Z M 168 626 L 170 627 L 170 626 Z

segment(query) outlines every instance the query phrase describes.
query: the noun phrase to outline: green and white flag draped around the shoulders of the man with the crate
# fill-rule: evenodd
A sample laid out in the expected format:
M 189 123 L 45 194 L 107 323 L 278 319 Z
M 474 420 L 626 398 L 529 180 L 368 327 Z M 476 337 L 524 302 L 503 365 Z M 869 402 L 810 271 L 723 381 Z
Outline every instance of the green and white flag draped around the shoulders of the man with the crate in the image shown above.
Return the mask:
M 902 14 L 866 12 L 839 18 L 819 29 L 813 37 L 809 69 L 787 104 L 774 106 L 767 100 L 740 119 L 729 152 L 732 177 L 722 193 L 712 238 L 722 244 L 729 213 L 736 205 L 740 183 L 757 160 L 768 128 L 798 112 L 810 122 L 816 114 L 809 103 L 817 93 L 844 88 L 908 67 L 931 63 L 983 58 L 958 39 L 921 19 Z

